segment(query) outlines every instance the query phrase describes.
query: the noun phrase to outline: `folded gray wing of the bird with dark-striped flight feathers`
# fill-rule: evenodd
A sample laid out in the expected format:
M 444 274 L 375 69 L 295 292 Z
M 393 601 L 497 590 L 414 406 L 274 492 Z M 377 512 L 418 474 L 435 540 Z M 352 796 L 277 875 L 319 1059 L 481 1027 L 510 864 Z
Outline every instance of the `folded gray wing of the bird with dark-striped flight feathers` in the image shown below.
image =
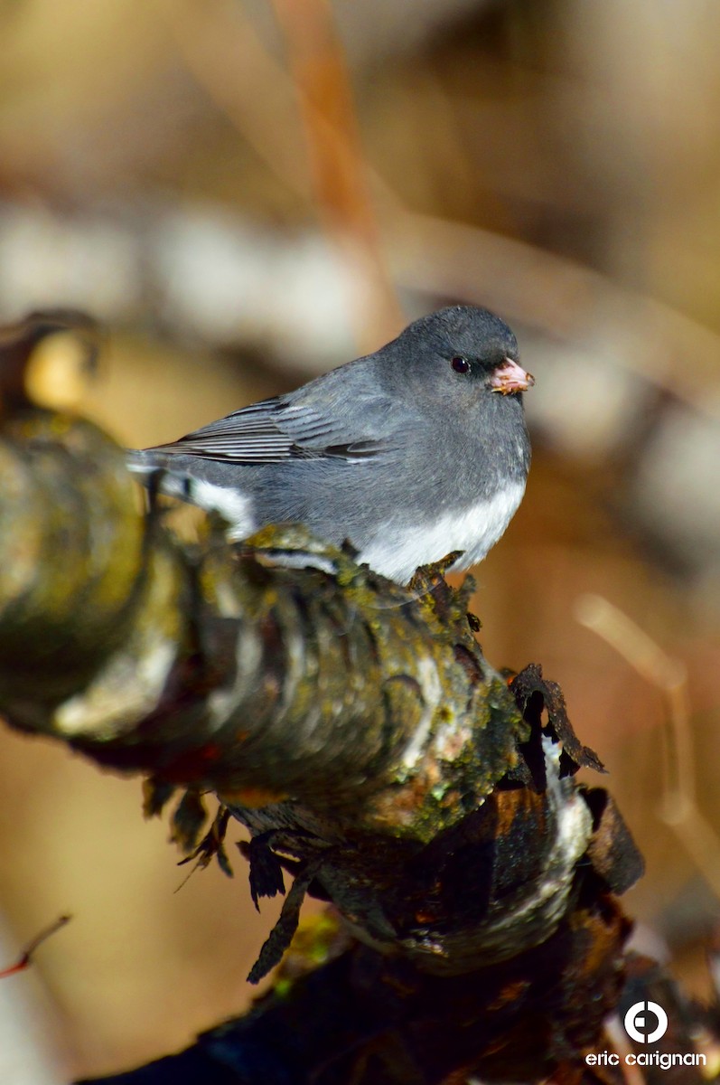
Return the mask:
M 263 399 L 152 451 L 256 464 L 323 457 L 367 459 L 396 444 L 398 411 L 388 397 L 361 398 L 362 403 L 351 400 L 352 410 L 337 410 L 332 401 L 303 401 L 292 394 Z

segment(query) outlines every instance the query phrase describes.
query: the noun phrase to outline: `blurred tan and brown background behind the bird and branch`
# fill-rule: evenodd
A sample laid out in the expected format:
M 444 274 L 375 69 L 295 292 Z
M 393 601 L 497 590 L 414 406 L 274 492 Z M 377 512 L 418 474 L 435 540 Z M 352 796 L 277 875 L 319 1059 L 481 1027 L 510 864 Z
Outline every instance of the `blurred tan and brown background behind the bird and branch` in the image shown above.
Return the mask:
M 47 401 L 155 444 L 441 304 L 512 323 L 535 460 L 476 571 L 480 639 L 563 686 L 647 860 L 627 908 L 700 992 L 720 916 L 719 35 L 710 0 L 0 3 L 0 319 L 75 305 L 106 329 L 89 385 L 72 343 L 42 347 Z M 667 654 L 653 680 L 579 624 L 588 593 Z M 664 682 L 705 819 L 690 803 L 674 828 Z M 233 881 L 176 894 L 187 868 L 138 780 L 7 730 L 0 778 L 3 956 L 75 916 L 0 983 L 44 1014 L 0 1041 L 3 1081 L 119 1070 L 242 1010 L 275 909 L 255 914 L 240 856 Z

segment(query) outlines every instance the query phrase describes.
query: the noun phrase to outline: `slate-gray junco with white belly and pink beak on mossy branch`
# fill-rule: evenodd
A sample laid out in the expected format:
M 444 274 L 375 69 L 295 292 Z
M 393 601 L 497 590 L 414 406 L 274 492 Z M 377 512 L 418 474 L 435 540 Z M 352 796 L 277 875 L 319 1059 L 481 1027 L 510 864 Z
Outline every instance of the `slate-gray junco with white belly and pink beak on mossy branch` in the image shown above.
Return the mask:
M 458 305 L 287 395 L 130 454 L 163 493 L 217 510 L 230 538 L 298 521 L 400 584 L 462 550 L 480 561 L 515 513 L 530 465 L 533 379 L 510 328 Z

